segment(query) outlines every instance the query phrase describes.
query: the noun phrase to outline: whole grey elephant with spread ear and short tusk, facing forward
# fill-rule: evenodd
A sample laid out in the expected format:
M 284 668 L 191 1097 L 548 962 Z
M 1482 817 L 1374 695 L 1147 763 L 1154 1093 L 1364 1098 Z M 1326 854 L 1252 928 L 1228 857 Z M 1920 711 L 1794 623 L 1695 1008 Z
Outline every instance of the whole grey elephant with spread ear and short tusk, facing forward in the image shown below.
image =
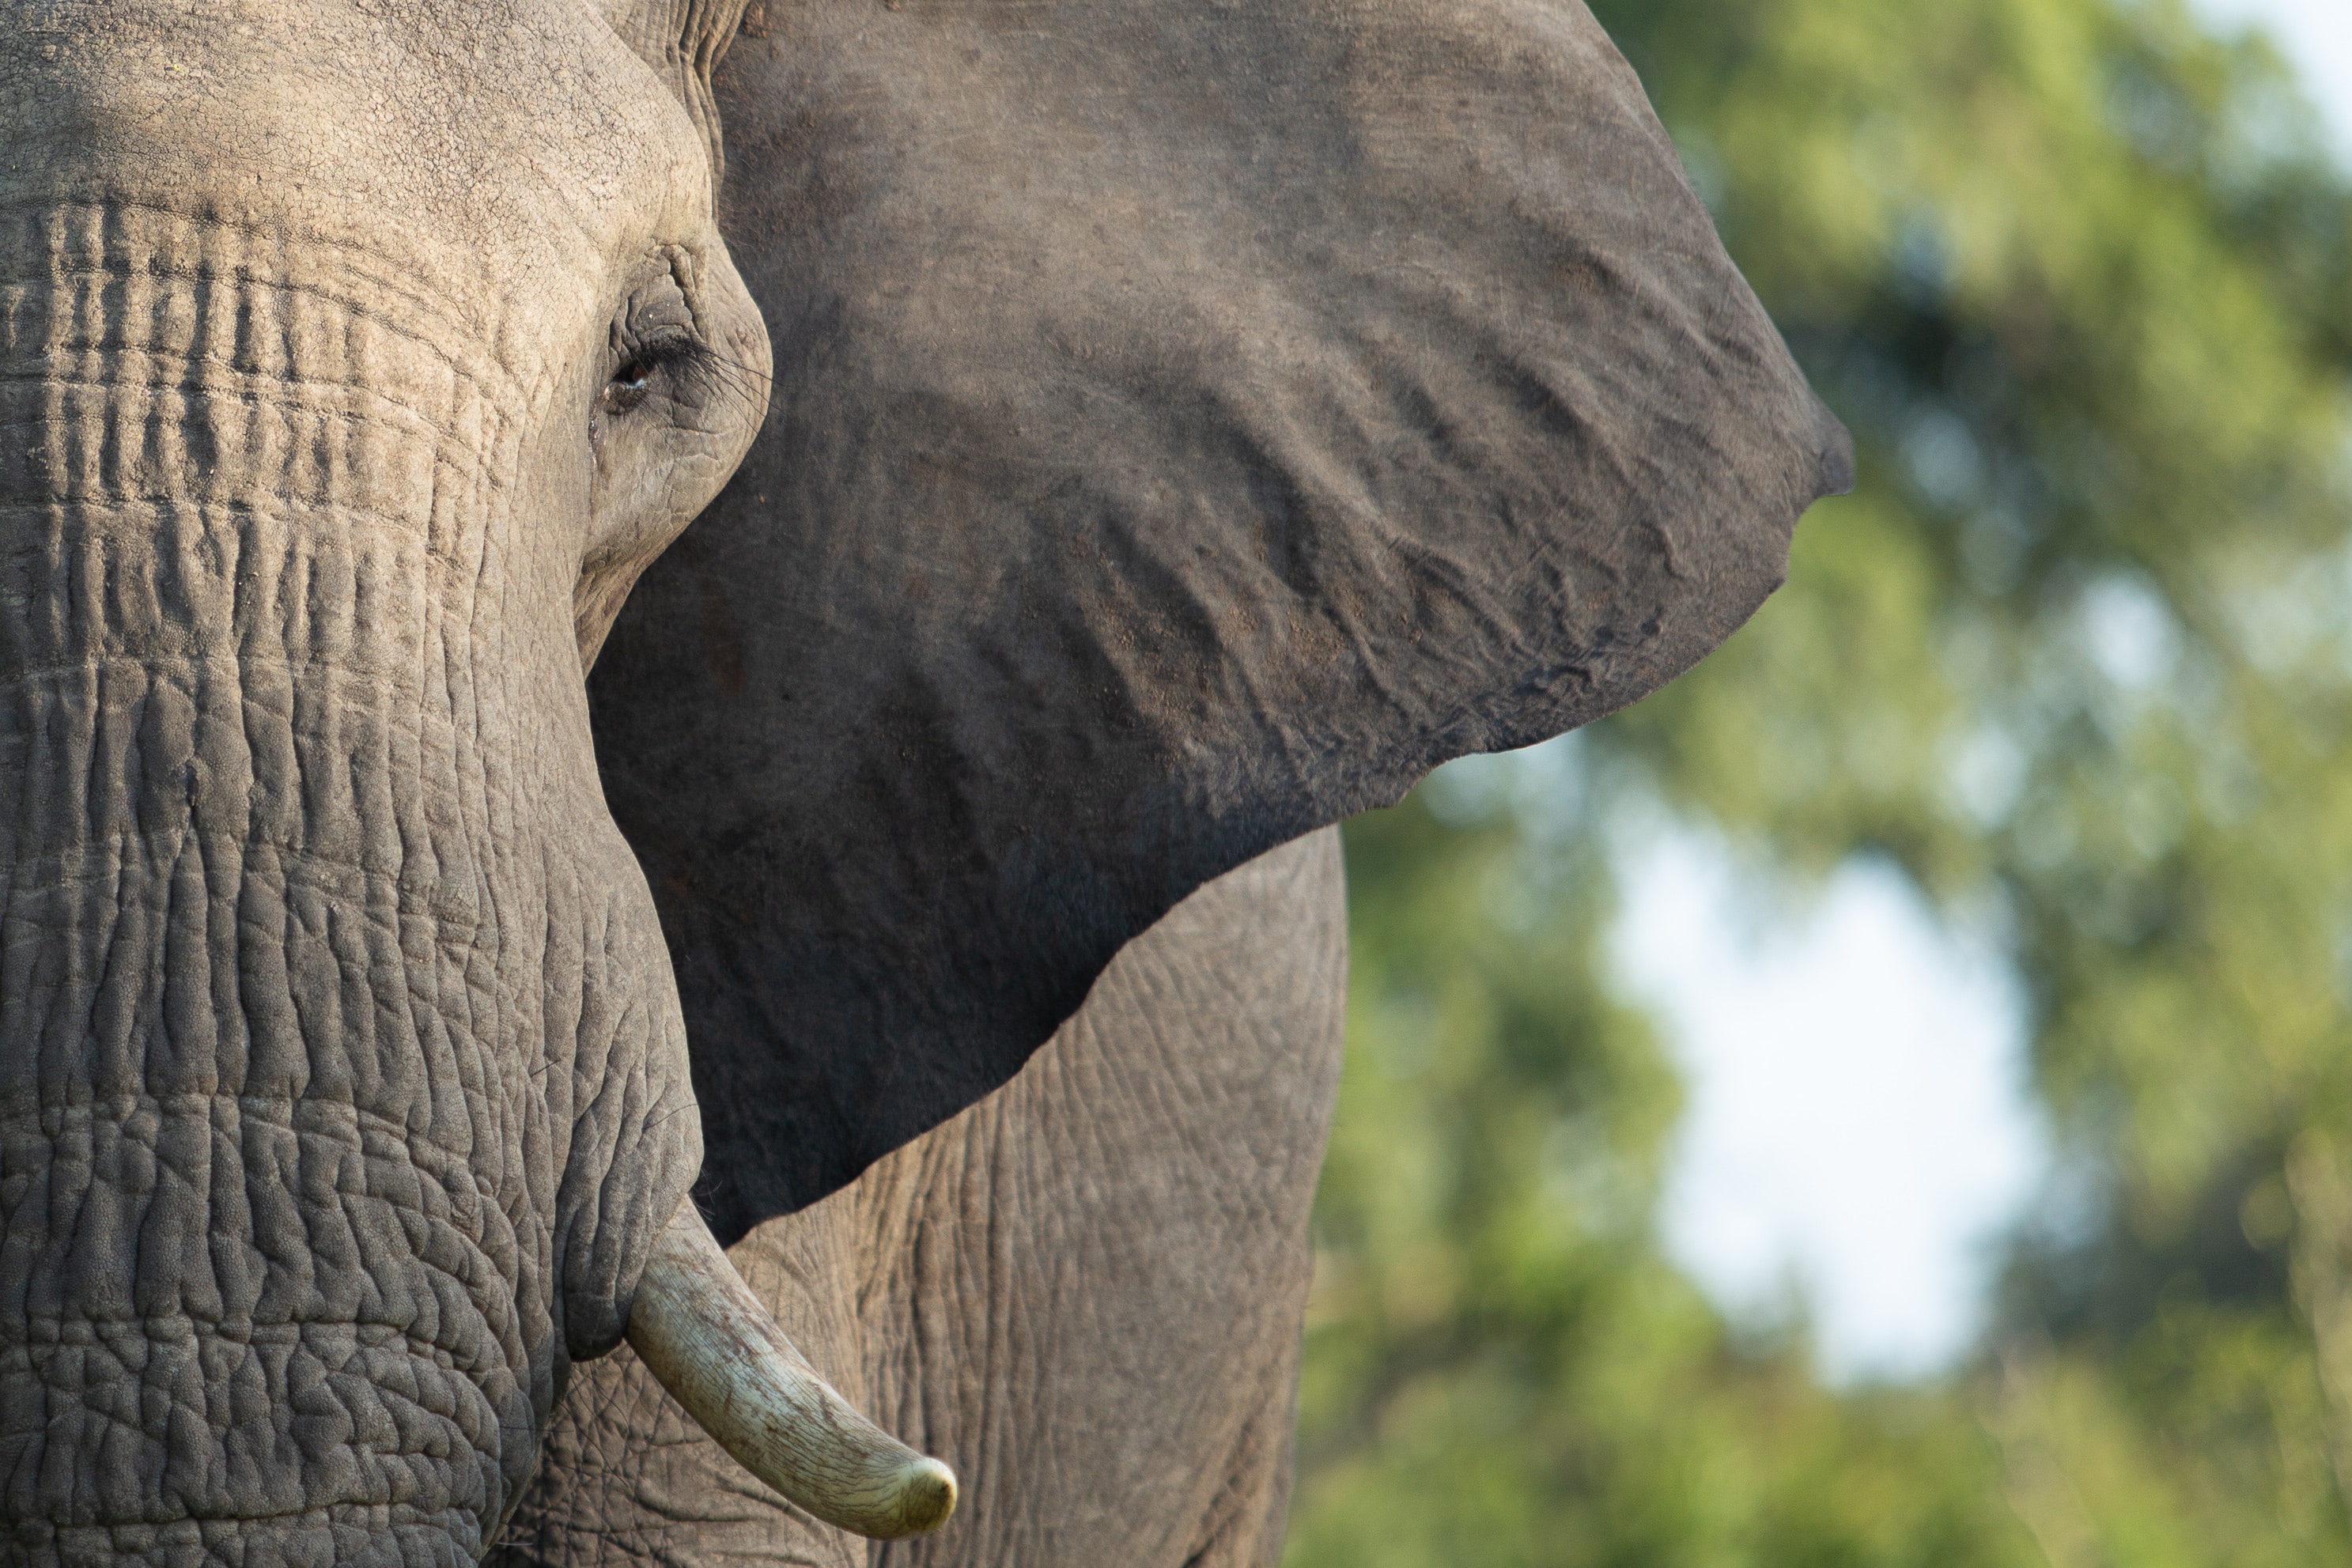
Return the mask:
M 1334 825 L 1851 482 L 1581 0 L 9 0 L 0 132 L 9 1556 L 1270 1561 Z

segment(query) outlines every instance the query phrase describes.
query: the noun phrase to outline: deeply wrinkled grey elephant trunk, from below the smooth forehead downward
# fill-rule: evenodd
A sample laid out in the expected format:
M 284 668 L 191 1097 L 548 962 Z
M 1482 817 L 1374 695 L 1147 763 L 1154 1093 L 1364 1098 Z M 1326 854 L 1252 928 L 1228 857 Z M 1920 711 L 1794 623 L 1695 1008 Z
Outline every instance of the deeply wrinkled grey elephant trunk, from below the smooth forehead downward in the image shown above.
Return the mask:
M 520 393 L 346 261 L 0 214 L 16 1559 L 470 1561 L 701 1161 Z

